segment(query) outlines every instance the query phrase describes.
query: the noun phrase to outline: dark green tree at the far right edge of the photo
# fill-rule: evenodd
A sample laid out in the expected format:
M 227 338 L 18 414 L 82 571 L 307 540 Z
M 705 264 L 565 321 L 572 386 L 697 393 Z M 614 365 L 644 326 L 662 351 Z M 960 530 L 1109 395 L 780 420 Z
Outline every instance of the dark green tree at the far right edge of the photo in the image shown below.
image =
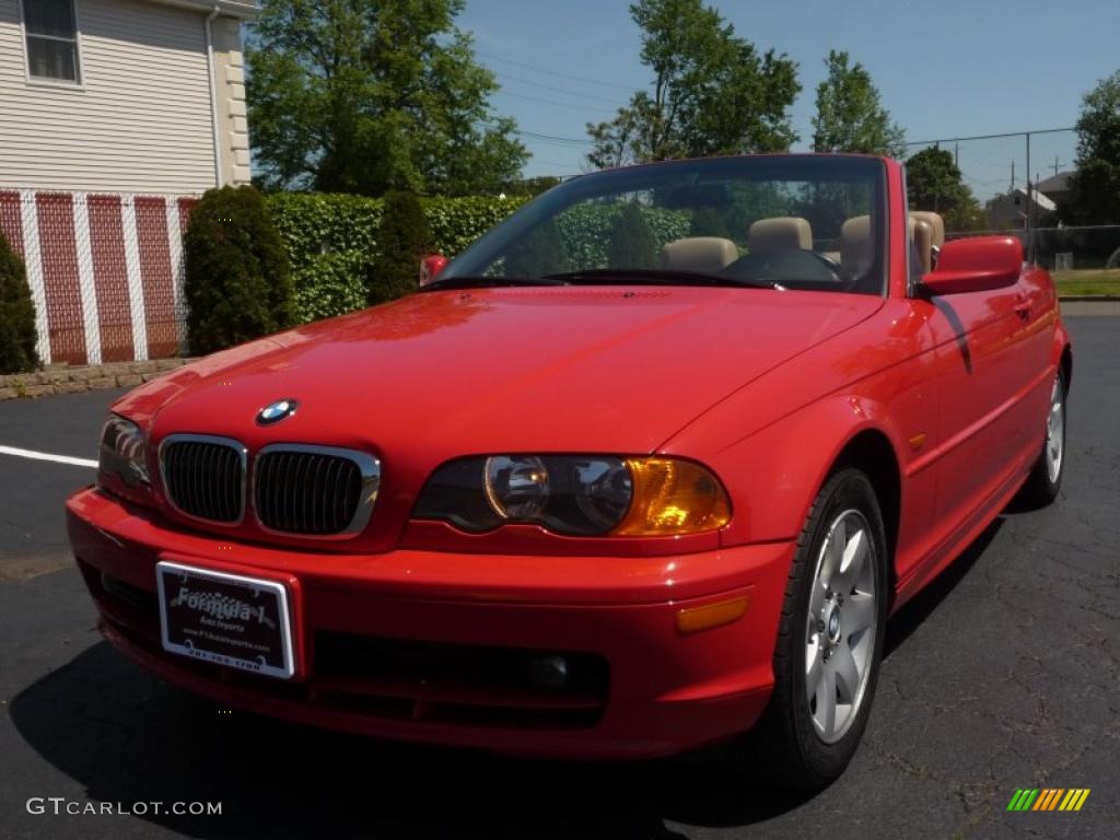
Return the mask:
M 1120 71 L 1085 94 L 1077 120 L 1077 170 L 1063 220 L 1120 224 Z

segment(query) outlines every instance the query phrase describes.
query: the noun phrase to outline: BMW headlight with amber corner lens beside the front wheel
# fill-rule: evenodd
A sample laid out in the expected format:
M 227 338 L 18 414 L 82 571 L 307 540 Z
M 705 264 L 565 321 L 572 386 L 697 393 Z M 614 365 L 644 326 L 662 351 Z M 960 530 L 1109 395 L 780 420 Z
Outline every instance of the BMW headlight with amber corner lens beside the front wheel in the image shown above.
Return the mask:
M 528 523 L 570 535 L 660 536 L 718 530 L 731 507 L 719 480 L 692 461 L 497 455 L 437 469 L 413 516 L 472 532 Z

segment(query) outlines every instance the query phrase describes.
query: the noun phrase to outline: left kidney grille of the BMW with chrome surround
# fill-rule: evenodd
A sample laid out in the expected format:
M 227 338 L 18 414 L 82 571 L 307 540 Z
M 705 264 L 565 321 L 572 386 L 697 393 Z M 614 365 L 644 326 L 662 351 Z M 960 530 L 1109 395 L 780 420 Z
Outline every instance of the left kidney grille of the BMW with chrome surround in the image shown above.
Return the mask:
M 233 525 L 244 516 L 245 447 L 230 438 L 171 435 L 160 447 L 164 491 L 181 513 Z

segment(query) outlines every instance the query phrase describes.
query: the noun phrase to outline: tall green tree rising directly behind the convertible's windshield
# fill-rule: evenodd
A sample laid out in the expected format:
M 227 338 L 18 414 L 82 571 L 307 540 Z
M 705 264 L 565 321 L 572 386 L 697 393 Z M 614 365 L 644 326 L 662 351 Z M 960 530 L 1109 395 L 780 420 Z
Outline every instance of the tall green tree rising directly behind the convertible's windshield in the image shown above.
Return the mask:
M 652 93 L 636 92 L 614 120 L 588 123 L 598 168 L 749 151 L 783 151 L 797 139 L 788 109 L 797 65 L 750 41 L 702 0 L 640 0 L 642 63 Z

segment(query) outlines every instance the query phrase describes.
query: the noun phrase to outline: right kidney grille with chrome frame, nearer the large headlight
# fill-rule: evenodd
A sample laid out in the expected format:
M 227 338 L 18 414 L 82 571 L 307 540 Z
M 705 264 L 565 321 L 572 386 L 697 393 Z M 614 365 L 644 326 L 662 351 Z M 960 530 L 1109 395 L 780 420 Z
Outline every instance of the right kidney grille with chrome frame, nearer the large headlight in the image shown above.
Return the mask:
M 281 444 L 253 466 L 256 519 L 270 531 L 309 536 L 357 533 L 377 496 L 380 464 L 364 452 Z

